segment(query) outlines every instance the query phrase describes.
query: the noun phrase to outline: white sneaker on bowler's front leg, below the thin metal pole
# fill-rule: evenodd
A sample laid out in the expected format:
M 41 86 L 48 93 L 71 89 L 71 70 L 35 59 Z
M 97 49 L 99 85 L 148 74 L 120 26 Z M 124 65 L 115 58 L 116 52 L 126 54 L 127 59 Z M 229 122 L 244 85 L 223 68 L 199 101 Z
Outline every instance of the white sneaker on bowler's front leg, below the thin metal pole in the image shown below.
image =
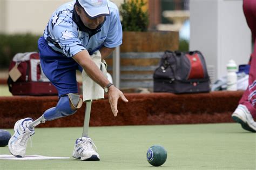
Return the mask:
M 91 138 L 78 138 L 73 151 L 73 158 L 87 161 L 98 161 L 99 154 Z

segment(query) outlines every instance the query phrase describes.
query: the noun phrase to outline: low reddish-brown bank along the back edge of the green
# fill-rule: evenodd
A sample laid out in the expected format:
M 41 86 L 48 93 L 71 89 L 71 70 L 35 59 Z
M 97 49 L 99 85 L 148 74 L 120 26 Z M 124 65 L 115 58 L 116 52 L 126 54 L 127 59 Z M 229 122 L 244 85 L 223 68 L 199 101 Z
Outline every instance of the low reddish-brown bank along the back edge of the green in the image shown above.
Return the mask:
M 109 101 L 92 103 L 90 126 L 160 125 L 233 122 L 231 114 L 238 105 L 242 91 L 198 94 L 126 93 L 129 103 L 118 101 L 118 116 L 113 117 Z M 57 96 L 0 97 L 0 128 L 13 128 L 17 120 L 37 119 L 45 110 L 56 106 Z M 85 104 L 77 113 L 46 121 L 39 127 L 83 126 Z

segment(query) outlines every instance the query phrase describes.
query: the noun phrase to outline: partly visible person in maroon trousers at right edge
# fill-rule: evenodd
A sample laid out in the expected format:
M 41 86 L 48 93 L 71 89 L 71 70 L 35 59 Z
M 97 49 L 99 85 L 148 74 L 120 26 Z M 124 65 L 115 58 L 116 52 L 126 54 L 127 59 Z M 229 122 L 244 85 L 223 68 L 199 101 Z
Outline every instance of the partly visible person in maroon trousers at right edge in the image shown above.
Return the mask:
M 242 95 L 239 105 L 232 114 L 235 122 L 241 124 L 246 131 L 256 132 L 256 1 L 242 1 L 242 8 L 247 24 L 252 32 L 254 47 L 250 58 L 248 87 Z

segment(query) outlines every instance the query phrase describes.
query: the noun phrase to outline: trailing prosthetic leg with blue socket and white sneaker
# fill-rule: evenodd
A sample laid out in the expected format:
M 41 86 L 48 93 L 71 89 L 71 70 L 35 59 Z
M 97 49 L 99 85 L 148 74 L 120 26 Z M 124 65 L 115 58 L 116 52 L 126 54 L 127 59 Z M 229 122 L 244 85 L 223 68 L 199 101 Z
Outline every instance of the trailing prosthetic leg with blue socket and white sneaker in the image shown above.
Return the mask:
M 82 104 L 83 100 L 80 99 L 79 95 L 69 93 L 61 96 L 57 106 L 46 110 L 37 120 L 33 121 L 31 118 L 18 120 L 14 127 L 15 133 L 12 135 L 8 144 L 11 154 L 19 158 L 25 157 L 26 144 L 30 136 L 35 134 L 34 128 L 37 125 L 45 123 L 46 120 L 54 120 L 74 114 Z

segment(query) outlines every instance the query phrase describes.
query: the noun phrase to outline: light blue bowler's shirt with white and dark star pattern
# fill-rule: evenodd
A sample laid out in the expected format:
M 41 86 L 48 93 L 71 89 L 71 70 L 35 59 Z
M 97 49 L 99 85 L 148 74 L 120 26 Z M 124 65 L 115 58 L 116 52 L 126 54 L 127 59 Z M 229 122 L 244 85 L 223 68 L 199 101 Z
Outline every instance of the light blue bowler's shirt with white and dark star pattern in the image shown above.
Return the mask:
M 107 1 L 110 16 L 105 16 L 105 22 L 97 33 L 89 36 L 88 32 L 79 30 L 79 26 L 72 19 L 75 2 L 76 0 L 63 4 L 53 12 L 44 30 L 44 39 L 53 50 L 73 57 L 85 49 L 91 55 L 103 45 L 112 48 L 122 44 L 122 25 L 114 3 Z

